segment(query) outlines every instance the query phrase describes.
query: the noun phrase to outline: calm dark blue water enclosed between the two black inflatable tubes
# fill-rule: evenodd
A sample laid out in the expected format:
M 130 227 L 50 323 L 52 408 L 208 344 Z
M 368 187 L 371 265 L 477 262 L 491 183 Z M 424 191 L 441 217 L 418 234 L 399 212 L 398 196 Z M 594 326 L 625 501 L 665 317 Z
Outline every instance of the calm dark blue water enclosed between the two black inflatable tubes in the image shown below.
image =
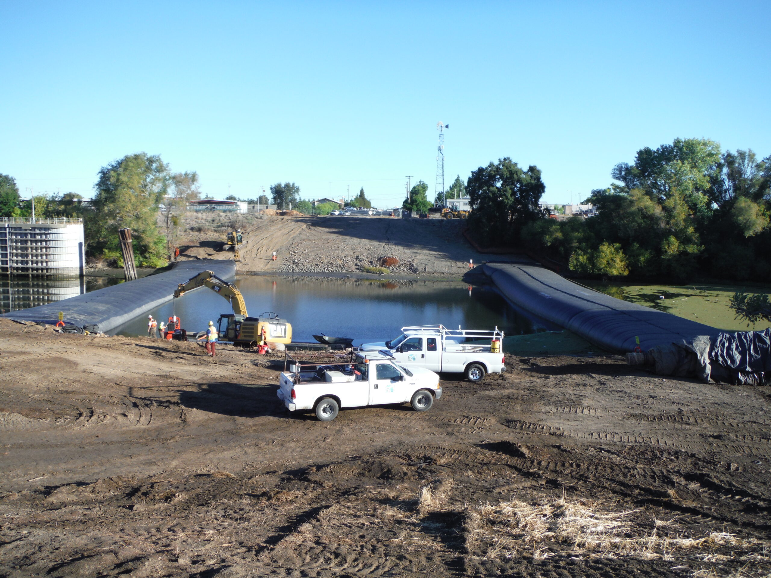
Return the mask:
M 514 311 L 496 291 L 452 281 L 371 281 L 315 277 L 239 276 L 249 314 L 274 311 L 292 324 L 294 341 L 313 341 L 313 334 L 375 341 L 393 338 L 405 325 L 459 325 L 465 329 L 492 329 L 508 335 L 544 331 L 544 324 Z M 207 288 L 150 311 L 166 321 L 176 314 L 188 333 L 217 322 L 231 313 L 226 300 Z M 116 330 L 117 334 L 146 334 L 147 316 Z

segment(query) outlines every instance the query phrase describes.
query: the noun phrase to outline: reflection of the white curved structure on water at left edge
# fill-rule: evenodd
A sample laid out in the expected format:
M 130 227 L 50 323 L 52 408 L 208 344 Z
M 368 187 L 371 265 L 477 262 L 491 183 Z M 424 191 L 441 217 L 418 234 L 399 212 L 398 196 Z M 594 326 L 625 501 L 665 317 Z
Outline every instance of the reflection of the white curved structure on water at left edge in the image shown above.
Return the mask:
M 4 313 L 62 301 L 85 292 L 83 277 L 0 275 L 0 307 Z

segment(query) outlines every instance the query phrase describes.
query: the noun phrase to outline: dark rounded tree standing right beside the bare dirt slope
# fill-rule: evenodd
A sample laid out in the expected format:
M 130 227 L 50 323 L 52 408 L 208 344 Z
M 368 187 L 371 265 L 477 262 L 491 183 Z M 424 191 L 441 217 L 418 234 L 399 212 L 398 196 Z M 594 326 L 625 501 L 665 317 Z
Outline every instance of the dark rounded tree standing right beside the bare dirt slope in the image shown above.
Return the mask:
M 538 205 L 545 190 L 537 166 L 522 170 L 509 157 L 480 166 L 466 183 L 470 229 L 483 244 L 516 243 L 527 223 L 545 216 Z

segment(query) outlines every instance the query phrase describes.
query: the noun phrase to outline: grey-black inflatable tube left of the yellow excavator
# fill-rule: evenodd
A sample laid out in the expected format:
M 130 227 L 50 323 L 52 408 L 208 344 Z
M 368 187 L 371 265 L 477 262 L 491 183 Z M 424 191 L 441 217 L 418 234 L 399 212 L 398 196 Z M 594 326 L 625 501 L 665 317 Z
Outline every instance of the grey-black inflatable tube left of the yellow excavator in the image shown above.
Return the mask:
M 227 279 L 236 274 L 236 265 L 234 261 L 218 259 L 182 261 L 164 273 L 105 287 L 56 303 L 13 311 L 6 317 L 17 321 L 56 324 L 59 321 L 59 311 L 63 311 L 66 324 L 79 328 L 84 325 L 97 325 L 99 331 L 111 331 L 126 321 L 170 301 L 178 284 L 184 283 L 201 271 L 214 271 L 217 277 Z

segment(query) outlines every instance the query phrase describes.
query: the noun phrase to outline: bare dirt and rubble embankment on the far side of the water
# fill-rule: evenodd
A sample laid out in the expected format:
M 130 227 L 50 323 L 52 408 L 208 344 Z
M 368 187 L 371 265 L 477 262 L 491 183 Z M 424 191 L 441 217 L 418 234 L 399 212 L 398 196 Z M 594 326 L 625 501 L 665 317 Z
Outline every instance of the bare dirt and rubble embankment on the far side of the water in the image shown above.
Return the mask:
M 244 220 L 239 272 L 354 272 L 396 257 L 401 274 L 463 275 L 474 251 L 458 220 L 392 217 L 252 217 Z M 211 235 L 210 235 L 211 236 Z M 222 240 L 190 240 L 184 258 L 231 259 Z M 273 251 L 277 260 L 271 260 Z

